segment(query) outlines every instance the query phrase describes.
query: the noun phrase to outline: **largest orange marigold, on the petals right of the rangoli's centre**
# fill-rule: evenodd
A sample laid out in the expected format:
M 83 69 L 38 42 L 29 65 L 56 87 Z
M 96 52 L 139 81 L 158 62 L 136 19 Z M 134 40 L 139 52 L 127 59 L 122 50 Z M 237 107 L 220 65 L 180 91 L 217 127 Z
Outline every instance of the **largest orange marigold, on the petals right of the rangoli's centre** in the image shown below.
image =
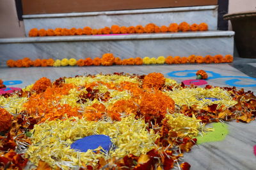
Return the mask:
M 145 116 L 146 121 L 152 118 L 164 118 L 167 111 L 173 111 L 174 108 L 173 99 L 161 91 L 145 92 L 141 97 L 140 113 Z

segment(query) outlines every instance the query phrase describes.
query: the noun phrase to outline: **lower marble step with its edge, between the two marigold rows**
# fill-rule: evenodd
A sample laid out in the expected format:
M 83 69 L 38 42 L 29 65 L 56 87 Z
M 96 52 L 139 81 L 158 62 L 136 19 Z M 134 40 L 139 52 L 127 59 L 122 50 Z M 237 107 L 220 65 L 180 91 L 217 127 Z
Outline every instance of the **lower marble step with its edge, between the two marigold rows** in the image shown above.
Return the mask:
M 227 55 L 234 52 L 233 31 L 120 34 L 110 36 L 58 36 L 0 39 L 0 62 L 8 59 L 63 59 L 101 57 L 158 57 Z

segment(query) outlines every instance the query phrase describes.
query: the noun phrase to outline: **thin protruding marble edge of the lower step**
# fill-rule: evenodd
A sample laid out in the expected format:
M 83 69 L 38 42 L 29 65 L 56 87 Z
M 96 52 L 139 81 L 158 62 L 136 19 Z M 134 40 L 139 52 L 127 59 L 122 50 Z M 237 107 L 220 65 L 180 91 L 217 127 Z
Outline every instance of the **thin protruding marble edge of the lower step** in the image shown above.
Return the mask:
M 57 41 L 108 41 L 129 39 L 180 39 L 180 38 L 204 38 L 234 36 L 234 31 L 202 31 L 202 32 L 177 32 L 155 34 L 120 34 L 113 36 L 51 36 L 51 37 L 27 37 L 27 38 L 1 38 L 1 43 L 40 43 Z

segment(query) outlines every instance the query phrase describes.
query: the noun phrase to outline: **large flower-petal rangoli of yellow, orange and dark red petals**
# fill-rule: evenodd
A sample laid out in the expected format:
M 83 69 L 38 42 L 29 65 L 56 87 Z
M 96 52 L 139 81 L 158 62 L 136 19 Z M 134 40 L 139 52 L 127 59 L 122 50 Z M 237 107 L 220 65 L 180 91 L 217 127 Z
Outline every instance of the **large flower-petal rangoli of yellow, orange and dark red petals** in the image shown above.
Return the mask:
M 44 77 L 1 95 L 0 106 L 0 169 L 189 169 L 181 158 L 212 130 L 205 124 L 256 116 L 253 92 L 186 87 L 161 73 Z M 71 148 L 99 134 L 109 151 Z

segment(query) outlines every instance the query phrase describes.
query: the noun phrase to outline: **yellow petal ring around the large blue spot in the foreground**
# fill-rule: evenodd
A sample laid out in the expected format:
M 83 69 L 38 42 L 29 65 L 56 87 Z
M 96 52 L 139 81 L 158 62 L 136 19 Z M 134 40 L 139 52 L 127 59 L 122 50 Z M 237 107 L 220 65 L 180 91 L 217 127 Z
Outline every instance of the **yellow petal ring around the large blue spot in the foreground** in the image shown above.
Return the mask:
M 119 122 L 106 120 L 90 122 L 83 118 L 47 121 L 36 125 L 33 129 L 31 139 L 33 144 L 29 146 L 26 155 L 35 164 L 41 159 L 51 167 L 62 169 L 88 163 L 97 164 L 99 158 L 119 159 L 127 154 L 140 156 L 156 148 L 154 143 L 159 138 L 153 130 L 148 132 L 147 127 L 144 120 L 136 120 L 134 115 L 122 118 Z M 79 152 L 70 149 L 70 145 L 77 139 L 93 134 L 105 134 L 111 137 L 115 150 L 110 150 L 109 153 L 95 153 L 92 150 Z

